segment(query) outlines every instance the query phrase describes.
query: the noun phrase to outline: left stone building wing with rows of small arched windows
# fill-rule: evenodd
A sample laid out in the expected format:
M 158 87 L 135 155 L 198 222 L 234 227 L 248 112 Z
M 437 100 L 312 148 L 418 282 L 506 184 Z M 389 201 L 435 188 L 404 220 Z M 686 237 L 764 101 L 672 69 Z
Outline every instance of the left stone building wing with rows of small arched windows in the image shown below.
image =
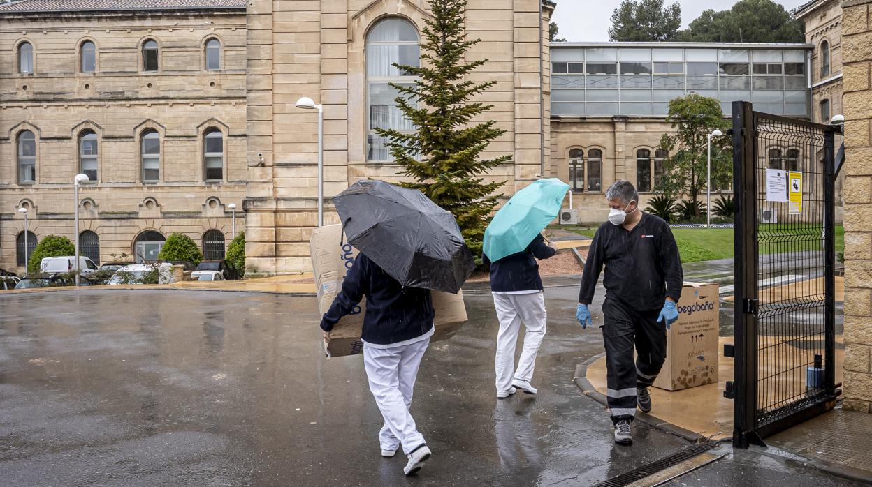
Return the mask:
M 232 239 L 245 162 L 244 0 L 0 5 L 0 268 L 47 234 L 153 259 L 169 233 L 208 256 Z M 239 215 L 242 217 L 242 214 Z M 242 218 L 238 220 L 242 230 Z M 114 257 L 113 257 L 114 254 Z

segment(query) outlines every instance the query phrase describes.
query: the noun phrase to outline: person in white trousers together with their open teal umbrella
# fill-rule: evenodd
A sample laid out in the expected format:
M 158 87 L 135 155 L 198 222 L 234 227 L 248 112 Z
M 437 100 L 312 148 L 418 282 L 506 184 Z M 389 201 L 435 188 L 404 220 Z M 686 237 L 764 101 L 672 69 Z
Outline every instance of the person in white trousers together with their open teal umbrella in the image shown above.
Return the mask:
M 539 264 L 556 250 L 542 237 L 542 229 L 557 217 L 569 185 L 560 179 L 540 179 L 515 193 L 485 230 L 482 259 L 490 266 L 491 292 L 500 320 L 496 339 L 496 396 L 512 396 L 517 389 L 536 394 L 531 384 L 536 355 L 545 337 L 545 297 Z M 521 322 L 527 328 L 517 369 L 514 348 Z

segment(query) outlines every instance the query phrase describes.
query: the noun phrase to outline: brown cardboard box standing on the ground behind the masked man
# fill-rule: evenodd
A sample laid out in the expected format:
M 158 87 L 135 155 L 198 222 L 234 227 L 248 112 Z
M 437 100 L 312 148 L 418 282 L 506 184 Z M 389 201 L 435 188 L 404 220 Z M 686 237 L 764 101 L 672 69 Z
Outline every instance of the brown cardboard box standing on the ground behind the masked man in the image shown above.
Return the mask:
M 718 382 L 719 290 L 718 284 L 685 282 L 654 387 L 680 390 Z

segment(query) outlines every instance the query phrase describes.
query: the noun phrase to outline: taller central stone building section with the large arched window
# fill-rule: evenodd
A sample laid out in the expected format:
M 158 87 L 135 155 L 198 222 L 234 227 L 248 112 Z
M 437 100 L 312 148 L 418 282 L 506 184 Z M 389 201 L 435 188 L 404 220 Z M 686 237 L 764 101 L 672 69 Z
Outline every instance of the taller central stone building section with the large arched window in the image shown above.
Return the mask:
M 486 117 L 506 134 L 486 155 L 512 154 L 514 164 L 491 177 L 511 195 L 550 173 L 548 0 L 470 0 L 467 30 L 481 43 L 467 60 L 487 58 L 473 81 L 493 80 L 476 101 L 494 105 Z M 317 112 L 324 105 L 326 223 L 333 196 L 362 178 L 396 180 L 375 127 L 406 125 L 388 83 L 412 78 L 392 63 L 419 63 L 425 0 L 255 1 L 248 16 L 248 164 L 246 253 L 249 271 L 310 269 L 309 240 L 317 223 Z

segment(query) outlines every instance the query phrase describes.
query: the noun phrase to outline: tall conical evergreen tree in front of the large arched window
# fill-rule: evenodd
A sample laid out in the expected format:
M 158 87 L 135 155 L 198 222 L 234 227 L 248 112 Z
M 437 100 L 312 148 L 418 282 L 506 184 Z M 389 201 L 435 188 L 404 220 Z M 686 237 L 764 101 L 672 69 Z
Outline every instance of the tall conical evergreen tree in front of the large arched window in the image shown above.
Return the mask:
M 473 124 L 473 118 L 493 105 L 470 100 L 494 81 L 475 83 L 467 75 L 487 59 L 465 62 L 467 51 L 481 42 L 468 40 L 464 28 L 467 0 L 430 0 L 433 17 L 423 30 L 421 66 L 394 64 L 418 79 L 414 85 L 395 85 L 399 110 L 415 126 L 414 133 L 381 130 L 389 140 L 391 155 L 412 178 L 406 185 L 424 193 L 457 219 L 467 246 L 480 259 L 481 243 L 490 213 L 503 182 L 486 182 L 481 176 L 512 159 L 504 155 L 482 159 L 482 152 L 506 131 L 495 128 L 493 120 Z

